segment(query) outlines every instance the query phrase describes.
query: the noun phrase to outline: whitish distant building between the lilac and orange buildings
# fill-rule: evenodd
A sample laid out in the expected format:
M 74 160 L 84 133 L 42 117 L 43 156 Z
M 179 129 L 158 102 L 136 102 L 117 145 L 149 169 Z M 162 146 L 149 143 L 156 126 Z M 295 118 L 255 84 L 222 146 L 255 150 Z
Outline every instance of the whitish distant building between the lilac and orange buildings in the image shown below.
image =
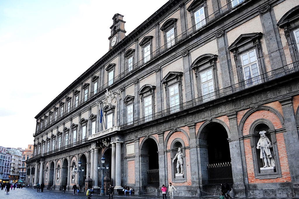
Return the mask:
M 7 148 L 7 153 L 11 154 L 9 179 L 11 182 L 16 183 L 20 177 L 22 149 Z

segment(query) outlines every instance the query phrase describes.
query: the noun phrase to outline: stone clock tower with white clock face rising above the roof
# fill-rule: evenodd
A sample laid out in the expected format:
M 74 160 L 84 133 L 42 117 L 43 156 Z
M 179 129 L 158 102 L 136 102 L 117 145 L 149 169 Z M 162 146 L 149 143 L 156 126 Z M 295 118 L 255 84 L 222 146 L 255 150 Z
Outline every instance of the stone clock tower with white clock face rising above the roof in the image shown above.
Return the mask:
M 109 39 L 109 50 L 113 48 L 120 40 L 125 38 L 125 21 L 123 21 L 123 15 L 116 13 L 113 17 L 113 25 L 110 27 L 111 36 Z

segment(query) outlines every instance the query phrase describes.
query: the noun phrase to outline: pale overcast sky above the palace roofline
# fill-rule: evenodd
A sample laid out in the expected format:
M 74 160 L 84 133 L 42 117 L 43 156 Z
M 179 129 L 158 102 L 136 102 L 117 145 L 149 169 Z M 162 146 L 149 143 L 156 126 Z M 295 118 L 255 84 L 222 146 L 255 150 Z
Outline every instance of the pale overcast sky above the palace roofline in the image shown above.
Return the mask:
M 0 146 L 33 144 L 34 118 L 109 50 L 115 13 L 126 35 L 166 0 L 0 0 Z

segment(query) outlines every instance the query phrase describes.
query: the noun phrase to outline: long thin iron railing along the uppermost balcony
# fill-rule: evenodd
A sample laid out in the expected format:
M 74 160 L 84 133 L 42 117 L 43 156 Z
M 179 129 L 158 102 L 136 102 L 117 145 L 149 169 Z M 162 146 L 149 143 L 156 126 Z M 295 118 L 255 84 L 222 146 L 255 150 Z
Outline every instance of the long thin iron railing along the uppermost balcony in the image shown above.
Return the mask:
M 236 1 L 236 0 L 234 0 Z M 80 107 L 80 105 L 85 104 L 85 102 L 88 102 L 90 99 L 92 99 L 94 96 L 96 96 L 99 92 L 103 92 L 106 90 L 106 88 L 109 88 L 111 85 L 119 82 L 120 80 L 122 80 L 123 78 L 128 77 L 129 75 L 131 75 L 132 73 L 134 73 L 135 71 L 144 68 L 144 66 L 147 66 L 149 63 L 151 63 L 151 60 L 155 57 L 158 57 L 159 55 L 161 55 L 162 53 L 169 51 L 170 49 L 173 49 L 174 47 L 177 46 L 177 44 L 181 43 L 183 40 L 185 40 L 187 37 L 189 37 L 191 34 L 198 32 L 198 31 L 202 31 L 204 29 L 205 26 L 207 26 L 208 24 L 210 24 L 211 22 L 215 21 L 215 19 L 218 19 L 220 16 L 223 16 L 224 14 L 227 14 L 229 12 L 232 12 L 233 10 L 236 10 L 238 7 L 240 7 L 242 5 L 242 1 L 236 1 L 237 4 L 235 3 L 234 6 L 232 6 L 232 3 L 228 3 L 225 6 L 221 7 L 219 10 L 215 11 L 214 13 L 212 13 L 211 15 L 207 16 L 205 19 L 203 19 L 202 21 L 200 21 L 199 23 L 197 23 L 196 25 L 194 25 L 193 27 L 189 28 L 188 30 L 184 31 L 183 33 L 177 35 L 174 38 L 174 42 L 175 44 L 169 46 L 167 43 L 163 46 L 161 46 L 160 48 L 158 48 L 157 50 L 153 51 L 147 58 L 147 61 L 144 61 L 144 59 L 136 62 L 133 64 L 132 67 L 124 70 L 123 72 L 121 72 L 119 75 L 115 76 L 113 78 L 113 83 L 105 83 L 101 86 L 99 86 L 97 88 L 97 92 L 94 93 L 94 91 L 92 90 L 92 92 L 90 92 L 90 94 L 87 97 L 87 100 L 83 97 L 83 99 L 81 99 L 80 101 L 78 101 L 77 105 L 73 105 L 70 107 L 70 109 L 68 110 L 67 107 L 65 108 L 66 110 L 63 111 L 63 114 L 60 114 L 60 111 L 58 111 L 58 115 L 57 115 L 57 119 L 54 119 L 54 115 L 52 116 L 52 122 L 47 122 L 47 125 L 45 127 L 45 125 L 43 125 L 42 128 L 39 128 L 37 130 L 37 132 L 40 132 L 42 130 L 44 130 L 45 128 L 49 127 L 51 124 L 55 123 L 56 121 L 58 121 L 60 118 L 62 118 L 63 116 L 65 116 L 66 114 L 70 113 L 71 111 L 77 109 L 77 107 Z

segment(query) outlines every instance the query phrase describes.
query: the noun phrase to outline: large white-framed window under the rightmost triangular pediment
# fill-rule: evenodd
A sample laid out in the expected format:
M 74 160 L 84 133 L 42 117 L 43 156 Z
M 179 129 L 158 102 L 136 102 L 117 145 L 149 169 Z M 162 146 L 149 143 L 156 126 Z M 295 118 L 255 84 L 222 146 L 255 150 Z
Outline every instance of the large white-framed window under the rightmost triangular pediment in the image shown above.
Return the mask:
M 254 86 L 261 82 L 255 50 L 241 55 L 246 86 Z

